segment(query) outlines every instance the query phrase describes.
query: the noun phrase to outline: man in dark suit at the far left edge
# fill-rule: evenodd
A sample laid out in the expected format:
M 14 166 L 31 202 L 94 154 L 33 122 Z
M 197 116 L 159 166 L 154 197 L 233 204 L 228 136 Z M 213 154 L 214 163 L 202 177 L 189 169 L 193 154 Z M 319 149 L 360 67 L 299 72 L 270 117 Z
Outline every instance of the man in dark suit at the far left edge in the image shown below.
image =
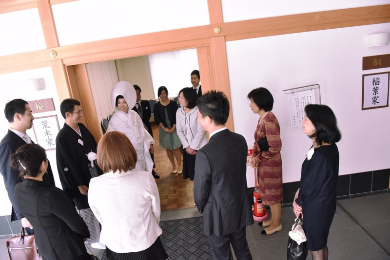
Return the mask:
M 24 227 L 32 227 L 16 204 L 14 189 L 21 182 L 21 179 L 18 170 L 11 167 L 9 159 L 11 154 L 15 153 L 20 146 L 32 143 L 31 138 L 26 134 L 26 130 L 33 126 L 34 116 L 27 101 L 19 98 L 11 100 L 5 105 L 4 114 L 9 122 L 9 129 L 0 143 L 0 172 L 4 179 L 8 198 L 12 204 L 11 221 L 21 219 Z M 50 162 L 47 173 L 43 175 L 43 182 L 55 185 Z M 29 228 L 27 228 L 27 233 L 34 234 Z

